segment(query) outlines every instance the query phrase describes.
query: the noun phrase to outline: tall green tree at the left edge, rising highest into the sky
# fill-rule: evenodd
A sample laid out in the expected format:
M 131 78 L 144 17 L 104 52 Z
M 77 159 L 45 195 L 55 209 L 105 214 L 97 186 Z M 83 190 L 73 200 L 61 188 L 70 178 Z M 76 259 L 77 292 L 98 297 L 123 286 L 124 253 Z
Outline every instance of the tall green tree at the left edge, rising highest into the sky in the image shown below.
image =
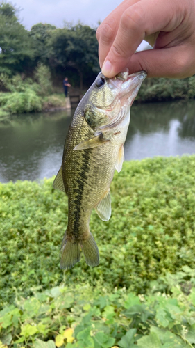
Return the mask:
M 19 23 L 17 9 L 0 3 L 0 72 L 23 71 L 33 58 L 28 31 Z

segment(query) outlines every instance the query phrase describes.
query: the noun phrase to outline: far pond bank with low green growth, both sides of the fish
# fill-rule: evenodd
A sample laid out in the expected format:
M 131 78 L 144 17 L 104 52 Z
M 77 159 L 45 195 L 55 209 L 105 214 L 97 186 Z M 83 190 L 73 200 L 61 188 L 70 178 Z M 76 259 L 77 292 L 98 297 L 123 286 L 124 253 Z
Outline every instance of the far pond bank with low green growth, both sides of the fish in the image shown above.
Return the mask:
M 17 74 L 9 78 L 0 75 L 0 81 L 7 93 L 0 93 L 0 121 L 17 113 L 48 111 L 65 107 L 65 97 L 53 94 L 49 68 L 40 65 L 37 79 L 22 79 Z M 82 92 L 83 93 L 83 92 Z M 195 76 L 187 79 L 146 79 L 139 90 L 137 102 L 162 102 L 167 100 L 189 100 L 195 98 Z

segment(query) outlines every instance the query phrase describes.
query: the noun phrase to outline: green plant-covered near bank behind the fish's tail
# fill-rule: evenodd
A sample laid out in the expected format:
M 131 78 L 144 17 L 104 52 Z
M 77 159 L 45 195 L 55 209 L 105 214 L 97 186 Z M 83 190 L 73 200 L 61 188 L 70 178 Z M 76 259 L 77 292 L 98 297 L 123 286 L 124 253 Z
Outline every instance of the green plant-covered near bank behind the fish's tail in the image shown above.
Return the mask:
M 194 347 L 195 156 L 124 162 L 110 221 L 90 219 L 99 267 L 60 269 L 68 206 L 52 182 L 0 184 L 4 345 Z

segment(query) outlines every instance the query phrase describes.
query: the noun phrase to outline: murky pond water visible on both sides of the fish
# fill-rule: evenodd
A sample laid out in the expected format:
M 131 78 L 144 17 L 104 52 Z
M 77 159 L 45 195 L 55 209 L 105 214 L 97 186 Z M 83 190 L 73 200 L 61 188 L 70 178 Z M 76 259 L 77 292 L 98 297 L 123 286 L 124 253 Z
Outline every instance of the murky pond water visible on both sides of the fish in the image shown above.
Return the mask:
M 31 113 L 0 122 L 0 182 L 58 172 L 73 111 Z M 125 159 L 195 153 L 195 100 L 133 104 Z

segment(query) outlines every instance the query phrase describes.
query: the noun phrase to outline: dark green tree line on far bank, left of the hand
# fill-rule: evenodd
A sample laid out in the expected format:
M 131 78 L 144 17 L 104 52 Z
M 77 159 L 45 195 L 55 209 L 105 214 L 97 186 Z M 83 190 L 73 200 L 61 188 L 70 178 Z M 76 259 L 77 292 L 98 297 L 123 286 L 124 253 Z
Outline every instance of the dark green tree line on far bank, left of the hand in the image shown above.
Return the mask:
M 38 23 L 28 31 L 17 8 L 1 2 L 0 74 L 33 77 L 40 63 L 49 67 L 54 82 L 66 75 L 73 86 L 89 86 L 100 70 L 96 30 L 80 23 L 62 29 Z

